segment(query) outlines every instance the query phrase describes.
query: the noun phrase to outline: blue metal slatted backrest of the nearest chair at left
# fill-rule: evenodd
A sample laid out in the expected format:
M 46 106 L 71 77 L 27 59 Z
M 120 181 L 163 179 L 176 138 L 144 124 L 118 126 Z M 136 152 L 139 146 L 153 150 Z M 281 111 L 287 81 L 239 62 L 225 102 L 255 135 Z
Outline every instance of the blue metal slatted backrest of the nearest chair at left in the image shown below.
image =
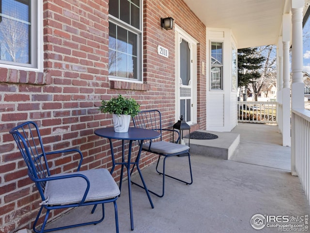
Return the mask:
M 36 183 L 41 198 L 44 200 L 46 182 L 40 181 L 40 179 L 50 176 L 50 171 L 38 126 L 32 121 L 28 121 L 16 126 L 10 130 L 10 133 L 28 166 L 30 179 Z

